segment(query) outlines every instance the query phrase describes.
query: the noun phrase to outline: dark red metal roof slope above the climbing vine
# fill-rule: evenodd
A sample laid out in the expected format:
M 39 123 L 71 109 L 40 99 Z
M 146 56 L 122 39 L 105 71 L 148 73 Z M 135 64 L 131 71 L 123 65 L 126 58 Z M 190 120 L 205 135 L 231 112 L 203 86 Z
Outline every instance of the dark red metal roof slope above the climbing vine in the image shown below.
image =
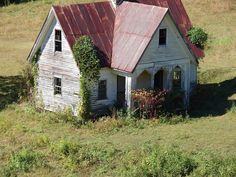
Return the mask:
M 88 35 L 102 54 L 102 65 L 110 66 L 115 9 L 110 2 L 53 6 L 71 48 Z

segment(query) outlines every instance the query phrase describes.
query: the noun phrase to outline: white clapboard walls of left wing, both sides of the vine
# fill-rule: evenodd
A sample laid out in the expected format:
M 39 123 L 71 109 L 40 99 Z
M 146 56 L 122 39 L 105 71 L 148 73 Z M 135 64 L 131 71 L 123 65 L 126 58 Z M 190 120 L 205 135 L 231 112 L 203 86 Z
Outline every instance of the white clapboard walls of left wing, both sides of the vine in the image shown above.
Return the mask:
M 80 100 L 79 69 L 72 51 L 62 33 L 62 52 L 54 52 L 54 31 L 61 29 L 56 19 L 53 20 L 46 39 L 41 47 L 39 60 L 38 87 L 45 108 L 51 111 L 78 106 Z M 62 79 L 62 95 L 54 95 L 53 77 Z M 116 75 L 111 69 L 100 71 L 100 80 L 107 80 L 107 99 L 98 100 L 98 86 L 91 90 L 91 107 L 93 110 L 103 109 L 116 103 Z

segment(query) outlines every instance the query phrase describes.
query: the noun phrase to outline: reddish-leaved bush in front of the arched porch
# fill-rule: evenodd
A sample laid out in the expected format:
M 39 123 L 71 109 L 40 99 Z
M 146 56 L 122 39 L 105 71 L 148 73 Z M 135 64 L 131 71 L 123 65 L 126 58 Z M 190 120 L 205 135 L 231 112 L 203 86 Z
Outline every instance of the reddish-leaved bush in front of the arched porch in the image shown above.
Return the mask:
M 139 118 L 158 117 L 158 113 L 163 108 L 167 91 L 160 90 L 133 90 L 132 91 L 132 111 Z

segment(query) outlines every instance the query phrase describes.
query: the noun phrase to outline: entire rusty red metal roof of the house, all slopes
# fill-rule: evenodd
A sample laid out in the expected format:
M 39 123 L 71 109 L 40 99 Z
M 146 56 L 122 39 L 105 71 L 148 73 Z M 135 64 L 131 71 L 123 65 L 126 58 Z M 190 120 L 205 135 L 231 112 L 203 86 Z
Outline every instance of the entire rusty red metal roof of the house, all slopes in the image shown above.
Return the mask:
M 192 53 L 196 58 L 204 56 L 187 38 L 192 24 L 181 0 L 137 2 L 123 2 L 116 9 L 109 1 L 53 9 L 70 47 L 80 36 L 90 36 L 103 56 L 103 66 L 133 72 L 168 9 Z

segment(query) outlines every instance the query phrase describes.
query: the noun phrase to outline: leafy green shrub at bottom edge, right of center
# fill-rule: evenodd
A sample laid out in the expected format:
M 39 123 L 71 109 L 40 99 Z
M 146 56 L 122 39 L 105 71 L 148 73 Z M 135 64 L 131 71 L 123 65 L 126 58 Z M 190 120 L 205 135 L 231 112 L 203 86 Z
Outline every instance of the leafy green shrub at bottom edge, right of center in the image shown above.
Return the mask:
M 134 170 L 133 176 L 188 176 L 196 167 L 189 155 L 156 147 Z

